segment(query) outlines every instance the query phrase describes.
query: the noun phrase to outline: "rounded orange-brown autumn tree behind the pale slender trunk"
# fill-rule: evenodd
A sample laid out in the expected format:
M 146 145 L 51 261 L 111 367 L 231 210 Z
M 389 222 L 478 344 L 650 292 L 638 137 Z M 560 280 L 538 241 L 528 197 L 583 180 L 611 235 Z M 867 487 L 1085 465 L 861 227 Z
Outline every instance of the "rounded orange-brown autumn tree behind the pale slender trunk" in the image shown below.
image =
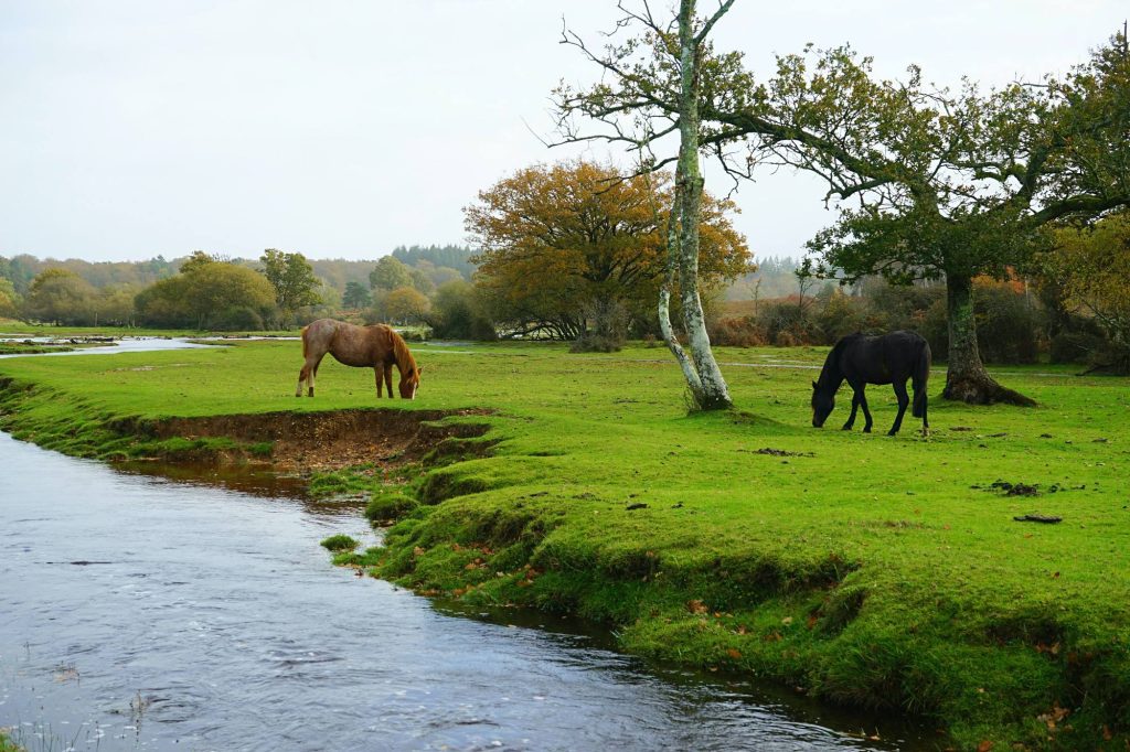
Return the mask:
M 621 177 L 589 161 L 520 169 L 479 193 L 466 226 L 480 246 L 478 286 L 511 332 L 575 339 L 601 329 L 594 311 L 620 309 L 636 331 L 654 326 L 666 263 L 670 176 Z M 736 207 L 703 201 L 701 283 L 747 271 Z M 617 305 L 609 306 L 615 303 Z

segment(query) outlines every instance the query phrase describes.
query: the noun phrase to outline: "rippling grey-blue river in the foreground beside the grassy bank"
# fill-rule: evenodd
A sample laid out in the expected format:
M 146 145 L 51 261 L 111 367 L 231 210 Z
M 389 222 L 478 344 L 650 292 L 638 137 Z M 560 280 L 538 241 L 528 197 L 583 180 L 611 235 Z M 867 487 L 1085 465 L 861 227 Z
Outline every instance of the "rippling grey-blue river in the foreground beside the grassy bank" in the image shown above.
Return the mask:
M 174 481 L 5 434 L 0 462 L 0 727 L 33 752 L 920 746 L 334 568 L 319 541 L 372 541 L 364 518 L 286 481 Z

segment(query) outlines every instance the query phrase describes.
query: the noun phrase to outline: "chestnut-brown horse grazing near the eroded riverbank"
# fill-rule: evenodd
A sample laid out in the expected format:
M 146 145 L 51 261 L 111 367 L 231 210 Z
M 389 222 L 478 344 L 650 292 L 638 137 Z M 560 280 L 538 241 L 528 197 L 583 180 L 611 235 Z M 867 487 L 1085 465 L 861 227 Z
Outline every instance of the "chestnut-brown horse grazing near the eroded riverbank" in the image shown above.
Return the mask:
M 423 369 L 416 365 L 405 340 L 391 326 L 384 324 L 355 326 L 332 318 L 319 318 L 302 330 L 302 355 L 306 362 L 298 373 L 298 388 L 295 390 L 295 396 L 302 396 L 303 382 L 310 386 L 310 396 L 314 396 L 314 377 L 327 352 L 346 366 L 374 369 L 376 396 L 381 396 L 383 375 L 390 399 L 392 366 L 395 364 L 400 371 L 400 396 L 406 400 L 416 399 Z

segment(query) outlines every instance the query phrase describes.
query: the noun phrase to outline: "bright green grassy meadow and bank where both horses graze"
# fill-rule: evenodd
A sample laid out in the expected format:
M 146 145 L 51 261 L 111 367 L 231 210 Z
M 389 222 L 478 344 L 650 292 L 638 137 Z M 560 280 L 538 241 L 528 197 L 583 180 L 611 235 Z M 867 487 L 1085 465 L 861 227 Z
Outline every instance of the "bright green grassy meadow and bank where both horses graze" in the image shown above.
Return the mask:
M 338 561 L 426 594 L 598 619 L 626 650 L 924 715 L 960 747 L 1130 740 L 1125 379 L 999 369 L 1041 406 L 933 399 L 929 439 L 910 418 L 888 438 L 883 387 L 869 391 L 876 434 L 809 426 L 819 348 L 720 348 L 738 408 L 696 416 L 658 348 L 414 353 L 419 397 L 384 405 L 492 408 L 492 453 L 445 452 L 405 488 L 337 473 L 327 489 L 367 490 L 372 518 L 400 519 L 386 548 Z M 127 418 L 376 404 L 372 371 L 330 360 L 319 396 L 296 400 L 299 365 L 294 342 L 16 358 L 0 361 L 0 425 L 114 456 Z M 1014 521 L 1026 514 L 1063 522 Z

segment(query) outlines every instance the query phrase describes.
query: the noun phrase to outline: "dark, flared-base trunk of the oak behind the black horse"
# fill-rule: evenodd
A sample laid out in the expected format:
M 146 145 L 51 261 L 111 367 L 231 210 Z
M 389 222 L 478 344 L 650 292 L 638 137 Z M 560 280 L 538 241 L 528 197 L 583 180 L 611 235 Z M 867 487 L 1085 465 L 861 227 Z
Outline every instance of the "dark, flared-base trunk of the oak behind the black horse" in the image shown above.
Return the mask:
M 946 388 L 941 395 L 970 404 L 1036 404 L 1034 400 L 994 382 L 981 362 L 977 325 L 973 315 L 973 280 L 968 274 L 946 276 L 946 314 L 949 358 Z

